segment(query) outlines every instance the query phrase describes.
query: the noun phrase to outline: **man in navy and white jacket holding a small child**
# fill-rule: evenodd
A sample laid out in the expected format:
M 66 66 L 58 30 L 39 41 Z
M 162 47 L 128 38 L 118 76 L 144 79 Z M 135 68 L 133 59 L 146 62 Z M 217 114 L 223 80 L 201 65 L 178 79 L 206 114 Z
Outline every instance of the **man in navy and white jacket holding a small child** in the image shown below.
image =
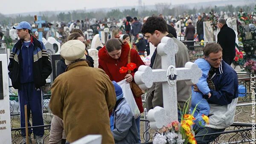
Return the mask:
M 208 98 L 209 95 L 204 97 L 210 106 L 209 124 L 194 130 L 198 144 L 209 144 L 220 134 L 205 134 L 223 132 L 234 122 L 238 100 L 238 77 L 236 71 L 222 60 L 222 48 L 218 43 L 207 43 L 203 52 L 204 59 L 211 65 L 207 78 L 211 97 Z M 194 91 L 199 92 L 196 86 Z M 203 136 L 198 137 L 198 135 Z

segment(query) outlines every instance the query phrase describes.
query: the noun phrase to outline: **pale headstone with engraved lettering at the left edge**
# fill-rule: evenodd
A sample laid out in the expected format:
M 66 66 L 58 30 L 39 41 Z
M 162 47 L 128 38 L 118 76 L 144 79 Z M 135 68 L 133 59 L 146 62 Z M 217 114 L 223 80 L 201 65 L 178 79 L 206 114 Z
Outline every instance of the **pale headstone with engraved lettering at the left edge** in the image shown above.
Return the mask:
M 7 55 L 0 54 L 0 144 L 11 144 Z

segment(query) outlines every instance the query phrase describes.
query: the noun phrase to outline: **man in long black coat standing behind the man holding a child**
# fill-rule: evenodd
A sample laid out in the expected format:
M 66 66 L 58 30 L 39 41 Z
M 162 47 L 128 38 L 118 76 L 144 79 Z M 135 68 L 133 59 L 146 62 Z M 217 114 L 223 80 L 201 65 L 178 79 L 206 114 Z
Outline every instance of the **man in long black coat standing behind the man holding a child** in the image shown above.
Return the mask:
M 230 65 L 236 56 L 236 33 L 227 26 L 226 20 L 223 18 L 218 20 L 217 26 L 221 29 L 218 33 L 218 43 L 223 49 L 222 59 Z

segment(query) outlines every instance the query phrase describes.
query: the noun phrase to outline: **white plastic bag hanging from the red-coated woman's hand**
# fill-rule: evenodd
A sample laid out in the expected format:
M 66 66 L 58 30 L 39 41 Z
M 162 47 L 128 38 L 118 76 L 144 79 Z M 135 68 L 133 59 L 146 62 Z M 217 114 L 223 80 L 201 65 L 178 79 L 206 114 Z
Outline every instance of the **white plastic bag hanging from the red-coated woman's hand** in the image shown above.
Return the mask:
M 124 98 L 126 99 L 127 103 L 129 104 L 131 111 L 134 115 L 134 118 L 139 118 L 140 116 L 140 110 L 135 102 L 134 96 L 131 92 L 131 87 L 130 84 L 128 82 L 124 80 L 119 81 L 117 84 L 119 84 L 119 86 L 121 86 L 123 94 L 124 94 Z

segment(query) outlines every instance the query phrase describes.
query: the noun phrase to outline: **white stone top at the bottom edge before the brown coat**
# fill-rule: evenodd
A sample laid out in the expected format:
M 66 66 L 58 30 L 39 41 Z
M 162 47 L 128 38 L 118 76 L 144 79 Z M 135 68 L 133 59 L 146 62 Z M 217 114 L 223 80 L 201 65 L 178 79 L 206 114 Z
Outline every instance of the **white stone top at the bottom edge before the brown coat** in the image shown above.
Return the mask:
M 86 135 L 83 138 L 80 138 L 77 141 L 74 141 L 71 144 L 101 144 L 102 135 Z

